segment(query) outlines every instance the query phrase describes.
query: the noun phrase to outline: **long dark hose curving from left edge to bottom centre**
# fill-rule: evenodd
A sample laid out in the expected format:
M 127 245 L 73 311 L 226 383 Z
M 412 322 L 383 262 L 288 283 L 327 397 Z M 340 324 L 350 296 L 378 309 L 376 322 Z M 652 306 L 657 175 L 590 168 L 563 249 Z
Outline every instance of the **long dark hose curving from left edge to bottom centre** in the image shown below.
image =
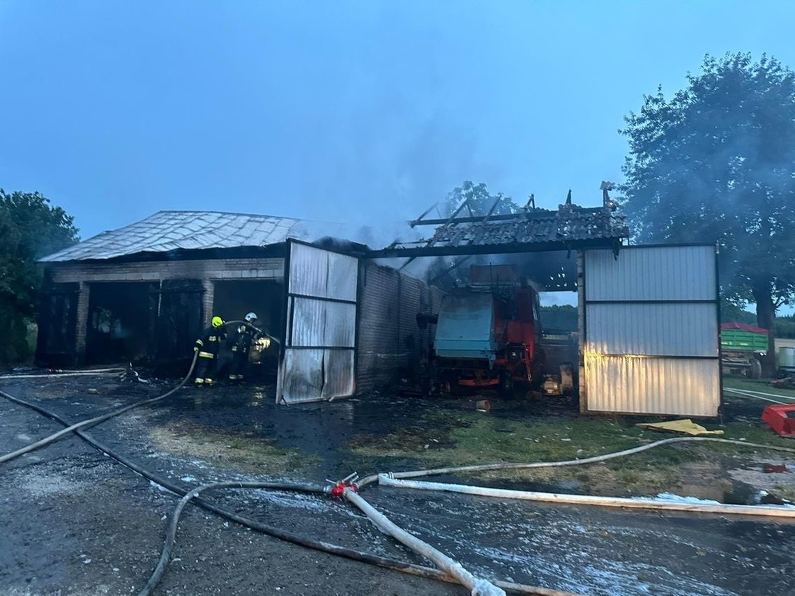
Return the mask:
M 14 397 L 13 395 L 10 395 L 10 393 L 6 393 L 2 390 L 0 390 L 0 397 L 4 397 L 15 404 L 19 404 L 25 406 L 26 408 L 30 408 L 35 412 L 39 412 L 41 415 L 64 425 L 64 427 L 72 426 L 67 420 L 64 420 L 64 418 L 58 416 L 55 412 L 50 412 L 48 409 L 42 408 L 38 404 L 21 400 L 20 398 Z M 125 455 L 122 455 L 118 453 L 118 451 L 114 451 L 114 449 L 111 447 L 101 443 L 99 440 L 95 439 L 93 436 L 89 435 L 80 428 L 77 428 L 73 432 L 78 435 L 80 439 L 83 439 L 83 441 L 91 445 L 91 447 L 95 447 L 95 449 L 103 452 L 105 455 L 111 459 L 114 459 L 116 462 L 122 464 L 122 466 L 125 466 L 129 470 L 132 470 L 135 474 L 142 476 L 142 478 L 149 480 L 149 482 L 154 482 L 158 486 L 162 486 L 164 489 L 169 490 L 180 497 L 184 497 L 186 494 L 195 491 L 185 490 L 182 486 L 176 485 L 168 478 L 163 478 L 151 470 L 147 470 L 146 468 L 138 465 L 138 463 L 134 462 L 132 459 L 127 458 Z M 234 484 L 235 486 L 239 485 L 238 482 L 235 482 Z M 330 490 L 328 490 L 328 492 L 330 492 Z M 253 520 L 249 517 L 244 517 L 238 513 L 235 513 L 234 511 L 231 511 L 230 509 L 225 509 L 219 505 L 215 505 L 214 503 L 207 501 L 202 497 L 192 497 L 190 502 L 199 505 L 202 509 L 205 509 L 211 513 L 215 513 L 220 517 L 224 517 L 229 521 L 233 521 L 236 524 L 241 524 L 246 528 L 251 528 L 256 532 L 261 532 L 267 536 L 273 536 L 273 538 L 284 540 L 285 542 L 289 542 L 291 544 L 297 544 L 297 546 L 311 548 L 315 551 L 325 552 L 329 555 L 339 556 L 343 559 L 349 559 L 359 563 L 367 563 L 369 565 L 373 565 L 374 567 L 382 567 L 383 569 L 389 569 L 391 571 L 401 571 L 402 573 L 415 575 L 425 579 L 457 583 L 455 579 L 452 579 L 448 574 L 444 573 L 443 571 L 439 571 L 438 569 L 425 567 L 423 565 L 417 565 L 414 563 L 408 563 L 398 559 L 392 559 L 390 557 L 374 555 L 373 553 L 369 552 L 357 551 L 352 548 L 339 546 L 338 544 L 325 542 L 324 540 L 316 540 L 308 536 L 289 532 L 288 530 L 283 530 L 281 528 L 277 528 L 276 526 L 263 524 L 260 521 Z M 511 592 L 518 594 L 531 594 L 532 596 L 578 596 L 578 594 L 573 594 L 572 592 L 553 590 L 538 586 L 528 586 L 521 583 L 497 580 L 494 580 L 492 583 L 504 588 L 505 590 L 510 590 Z

